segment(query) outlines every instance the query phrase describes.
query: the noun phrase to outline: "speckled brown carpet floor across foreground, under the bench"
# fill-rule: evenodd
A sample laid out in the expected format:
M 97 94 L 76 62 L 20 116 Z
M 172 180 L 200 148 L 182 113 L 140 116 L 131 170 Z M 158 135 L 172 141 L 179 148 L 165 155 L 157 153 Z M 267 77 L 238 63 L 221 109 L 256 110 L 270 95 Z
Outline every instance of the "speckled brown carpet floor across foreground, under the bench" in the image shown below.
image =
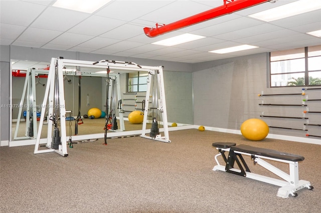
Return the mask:
M 0 150 L 0 211 L 11 212 L 319 212 L 321 146 L 197 129 L 170 131 L 171 143 L 139 136 L 74 144 L 69 156 L 33 154 L 34 146 Z M 213 142 L 249 144 L 303 155 L 297 197 L 279 186 L 213 171 Z M 250 157 L 252 172 L 270 175 Z M 286 163 L 274 163 L 288 171 Z M 273 175 L 272 175 L 273 176 Z

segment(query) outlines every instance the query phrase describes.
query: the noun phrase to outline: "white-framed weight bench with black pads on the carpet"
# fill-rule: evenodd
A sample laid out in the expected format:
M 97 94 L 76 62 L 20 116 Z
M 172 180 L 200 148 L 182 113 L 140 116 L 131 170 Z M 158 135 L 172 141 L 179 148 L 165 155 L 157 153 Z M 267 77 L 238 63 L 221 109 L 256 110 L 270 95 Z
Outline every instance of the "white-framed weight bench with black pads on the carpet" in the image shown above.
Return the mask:
M 267 148 L 253 147 L 250 145 L 236 145 L 233 142 L 215 142 L 212 144 L 219 153 L 215 155 L 215 161 L 217 165 L 213 170 L 221 170 L 229 173 L 237 174 L 240 176 L 248 177 L 251 179 L 260 180 L 270 184 L 281 186 L 278 189 L 277 196 L 287 198 L 289 194 L 293 197 L 297 196 L 296 191 L 306 187 L 310 190 L 313 186 L 309 181 L 299 180 L 298 175 L 298 161 L 304 160 L 303 156 L 271 150 Z M 228 157 L 225 152 L 228 151 Z M 217 159 L 218 156 L 222 156 L 226 165 L 221 165 Z M 260 174 L 252 173 L 250 168 L 246 164 L 243 155 L 250 155 L 254 164 L 259 164 L 282 179 L 276 179 Z M 279 162 L 285 162 L 289 164 L 289 173 L 286 173 L 274 165 L 268 163 L 263 159 L 270 159 Z M 238 168 L 234 168 L 234 163 L 237 163 Z

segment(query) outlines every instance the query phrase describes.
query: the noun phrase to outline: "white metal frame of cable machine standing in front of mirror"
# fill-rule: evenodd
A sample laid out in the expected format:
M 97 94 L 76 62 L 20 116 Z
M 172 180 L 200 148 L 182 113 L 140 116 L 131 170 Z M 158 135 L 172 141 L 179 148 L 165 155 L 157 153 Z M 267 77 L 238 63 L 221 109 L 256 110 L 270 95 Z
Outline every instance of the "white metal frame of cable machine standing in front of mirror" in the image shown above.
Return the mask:
M 40 117 L 40 124 L 38 129 L 38 134 L 36 138 L 36 144 L 34 153 L 46 153 L 46 152 L 57 152 L 61 154 L 62 156 L 68 156 L 67 152 L 67 137 L 66 137 L 66 109 L 65 109 L 65 97 L 64 97 L 64 85 L 63 83 L 58 83 L 58 93 L 59 93 L 59 119 L 60 119 L 60 134 L 61 134 L 61 145 L 59 145 L 58 149 L 51 148 L 51 139 L 52 139 L 52 124 L 53 121 L 48 119 L 48 130 L 47 130 L 47 142 L 46 147 L 48 149 L 42 149 L 39 150 L 39 144 L 40 144 L 40 136 L 45 116 L 46 107 L 49 108 L 49 117 L 53 115 L 53 103 L 54 103 L 54 88 L 55 88 L 55 66 L 57 64 L 58 69 L 58 82 L 63 82 L 64 79 L 64 71 L 63 68 L 65 65 L 70 66 L 85 66 L 85 67 L 99 67 L 99 68 L 110 68 L 110 69 L 119 69 L 119 70 L 128 70 L 128 71 L 147 71 L 149 74 L 157 74 L 158 79 L 158 86 L 159 91 L 161 91 L 161 98 L 159 99 L 159 102 L 162 103 L 161 107 L 159 107 L 159 110 L 162 112 L 163 115 L 163 124 L 164 124 L 164 132 L 165 137 L 162 137 L 161 135 L 157 135 L 155 138 L 146 136 L 146 122 L 147 122 L 147 113 L 144 113 L 144 121 L 143 121 L 143 129 L 141 137 L 146 137 L 150 139 L 155 139 L 159 141 L 164 142 L 170 142 L 169 139 L 169 133 L 168 133 L 168 123 L 167 123 L 167 111 L 166 111 L 166 101 L 165 101 L 165 90 L 164 90 L 164 84 L 163 84 L 163 67 L 162 66 L 143 66 L 143 65 L 137 65 L 136 63 L 132 62 L 126 62 L 126 61 L 115 61 L 115 60 L 101 60 L 101 61 L 84 61 L 84 60 L 73 60 L 73 59 L 63 59 L 63 58 L 52 58 L 51 64 L 50 64 L 50 70 L 48 73 L 48 80 L 45 90 L 45 96 L 43 100 L 43 104 L 41 106 L 42 112 Z M 68 73 L 66 73 L 68 74 Z M 85 74 L 85 73 L 84 73 Z M 101 76 L 101 75 L 100 75 Z M 118 90 L 118 98 L 120 98 L 120 89 Z M 147 83 L 147 92 L 146 92 L 146 111 L 148 110 L 148 101 L 149 99 L 149 91 L 150 91 L 150 82 Z M 48 99 L 49 96 L 49 99 Z M 162 99 L 164 98 L 164 99 Z M 49 103 L 48 103 L 49 102 Z M 119 113 L 120 116 L 122 116 L 122 113 Z

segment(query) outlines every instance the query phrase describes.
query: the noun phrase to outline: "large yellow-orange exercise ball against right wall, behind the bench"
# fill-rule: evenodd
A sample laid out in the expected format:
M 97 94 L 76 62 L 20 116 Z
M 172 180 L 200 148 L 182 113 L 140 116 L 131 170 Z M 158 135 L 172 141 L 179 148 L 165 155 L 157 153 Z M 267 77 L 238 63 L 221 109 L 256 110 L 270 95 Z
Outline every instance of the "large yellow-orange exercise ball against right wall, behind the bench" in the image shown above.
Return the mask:
M 269 126 L 261 119 L 250 118 L 241 125 L 242 135 L 249 140 L 262 140 L 269 133 Z

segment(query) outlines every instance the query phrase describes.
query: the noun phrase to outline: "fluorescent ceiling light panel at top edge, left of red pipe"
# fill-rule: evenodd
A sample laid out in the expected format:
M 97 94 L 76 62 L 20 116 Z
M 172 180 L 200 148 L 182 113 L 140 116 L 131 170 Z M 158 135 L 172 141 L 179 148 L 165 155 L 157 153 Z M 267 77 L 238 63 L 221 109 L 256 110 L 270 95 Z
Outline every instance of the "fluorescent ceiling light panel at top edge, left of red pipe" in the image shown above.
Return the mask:
M 57 0 L 53 6 L 93 13 L 110 0 Z

